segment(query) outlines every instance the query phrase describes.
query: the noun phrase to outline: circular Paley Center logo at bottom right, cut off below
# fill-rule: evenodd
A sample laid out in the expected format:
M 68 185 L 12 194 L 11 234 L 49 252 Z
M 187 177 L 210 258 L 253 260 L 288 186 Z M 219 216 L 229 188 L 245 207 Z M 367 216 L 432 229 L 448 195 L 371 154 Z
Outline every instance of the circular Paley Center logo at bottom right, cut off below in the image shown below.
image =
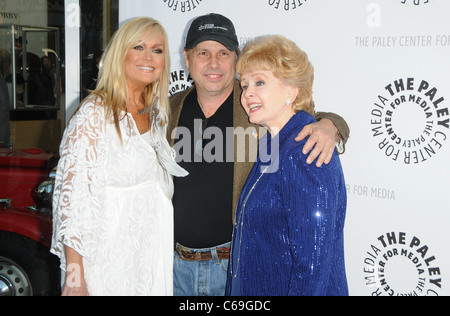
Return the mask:
M 363 265 L 372 296 L 439 296 L 442 290 L 441 268 L 432 247 L 405 231 L 379 236 Z

